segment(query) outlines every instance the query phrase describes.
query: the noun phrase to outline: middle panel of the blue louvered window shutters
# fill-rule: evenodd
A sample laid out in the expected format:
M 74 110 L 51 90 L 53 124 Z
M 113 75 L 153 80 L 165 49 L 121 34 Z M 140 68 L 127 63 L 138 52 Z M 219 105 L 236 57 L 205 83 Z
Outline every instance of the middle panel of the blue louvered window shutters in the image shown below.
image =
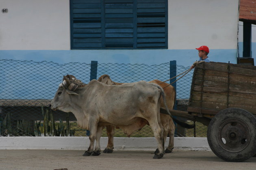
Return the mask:
M 104 0 L 105 48 L 133 48 L 133 0 Z

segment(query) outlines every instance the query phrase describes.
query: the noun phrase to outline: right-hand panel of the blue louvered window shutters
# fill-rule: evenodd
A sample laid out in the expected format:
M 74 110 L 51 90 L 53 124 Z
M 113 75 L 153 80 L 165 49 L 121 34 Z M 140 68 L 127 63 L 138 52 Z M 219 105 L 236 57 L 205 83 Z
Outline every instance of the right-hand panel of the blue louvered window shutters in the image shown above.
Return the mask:
M 137 47 L 167 48 L 167 0 L 137 0 Z

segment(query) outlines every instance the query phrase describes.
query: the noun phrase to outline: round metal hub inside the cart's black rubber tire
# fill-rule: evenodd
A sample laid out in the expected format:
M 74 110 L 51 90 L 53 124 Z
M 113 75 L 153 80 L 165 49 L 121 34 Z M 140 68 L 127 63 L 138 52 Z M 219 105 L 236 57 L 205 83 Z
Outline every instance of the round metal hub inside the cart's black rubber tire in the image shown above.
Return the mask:
M 217 141 L 224 150 L 240 152 L 251 140 L 249 127 L 241 119 L 226 119 L 217 129 Z

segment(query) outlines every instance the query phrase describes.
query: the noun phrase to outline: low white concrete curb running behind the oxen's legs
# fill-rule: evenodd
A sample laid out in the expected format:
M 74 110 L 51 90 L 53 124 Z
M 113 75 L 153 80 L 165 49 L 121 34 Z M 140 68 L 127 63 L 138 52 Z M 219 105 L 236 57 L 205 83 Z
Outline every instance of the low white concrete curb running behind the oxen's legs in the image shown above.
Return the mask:
M 106 148 L 107 137 L 100 138 L 101 149 Z M 169 138 L 165 143 L 167 147 Z M 89 147 L 89 137 L 0 137 L 0 149 L 69 149 L 86 150 Z M 155 138 L 114 138 L 115 150 L 152 150 L 157 147 Z M 207 138 L 174 138 L 174 149 L 210 151 Z

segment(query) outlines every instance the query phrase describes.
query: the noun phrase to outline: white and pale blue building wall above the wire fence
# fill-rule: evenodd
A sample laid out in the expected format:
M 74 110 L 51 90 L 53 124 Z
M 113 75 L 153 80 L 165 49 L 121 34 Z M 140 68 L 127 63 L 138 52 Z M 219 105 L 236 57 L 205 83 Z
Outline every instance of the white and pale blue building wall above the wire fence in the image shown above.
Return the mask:
M 239 0 L 169 0 L 168 49 L 70 50 L 69 0 L 0 0 L 0 59 L 190 66 L 195 47 L 211 61 L 236 63 Z

